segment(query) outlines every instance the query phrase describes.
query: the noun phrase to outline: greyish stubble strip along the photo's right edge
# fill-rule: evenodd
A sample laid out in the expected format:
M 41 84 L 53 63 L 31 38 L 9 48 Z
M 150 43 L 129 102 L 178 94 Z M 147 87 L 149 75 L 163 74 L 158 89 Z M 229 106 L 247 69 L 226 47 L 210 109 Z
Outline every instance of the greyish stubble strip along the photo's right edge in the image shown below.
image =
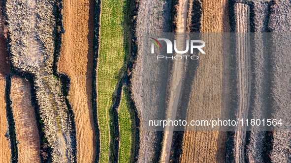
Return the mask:
M 291 32 L 291 2 L 289 0 L 276 1 L 270 6 L 268 28 L 271 32 Z M 282 34 L 280 39 L 273 37 L 274 51 L 271 59 L 271 109 L 274 117 L 290 117 L 291 100 L 291 60 L 290 60 L 290 34 Z M 283 55 L 284 54 L 284 55 Z M 283 118 L 287 122 L 287 119 Z M 272 133 L 273 146 L 270 153 L 271 161 L 274 163 L 291 162 L 291 132 Z

